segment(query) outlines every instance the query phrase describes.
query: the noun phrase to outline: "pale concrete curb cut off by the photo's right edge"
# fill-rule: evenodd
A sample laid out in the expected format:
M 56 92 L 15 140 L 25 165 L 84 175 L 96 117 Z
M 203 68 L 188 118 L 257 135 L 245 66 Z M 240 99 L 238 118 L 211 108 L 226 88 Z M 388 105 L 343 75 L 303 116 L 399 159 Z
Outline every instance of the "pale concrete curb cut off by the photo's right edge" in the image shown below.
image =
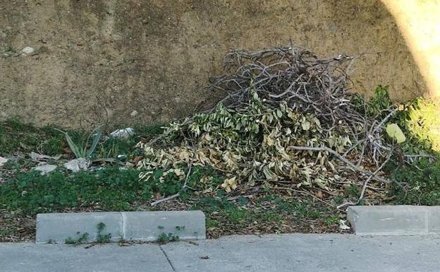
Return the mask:
M 440 206 L 351 206 L 356 235 L 439 235 Z

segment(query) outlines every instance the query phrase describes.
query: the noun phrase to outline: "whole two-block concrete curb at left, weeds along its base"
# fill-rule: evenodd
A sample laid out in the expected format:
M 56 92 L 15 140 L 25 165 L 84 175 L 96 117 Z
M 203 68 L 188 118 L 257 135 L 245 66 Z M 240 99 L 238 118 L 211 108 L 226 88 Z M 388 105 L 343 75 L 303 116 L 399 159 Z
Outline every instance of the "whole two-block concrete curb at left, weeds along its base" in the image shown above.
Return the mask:
M 99 233 L 100 223 L 105 227 Z M 99 234 L 110 235 L 112 242 L 154 242 L 160 235 L 178 236 L 181 240 L 206 239 L 202 211 L 40 213 L 35 243 L 78 240 L 86 232 L 87 242 L 97 242 Z

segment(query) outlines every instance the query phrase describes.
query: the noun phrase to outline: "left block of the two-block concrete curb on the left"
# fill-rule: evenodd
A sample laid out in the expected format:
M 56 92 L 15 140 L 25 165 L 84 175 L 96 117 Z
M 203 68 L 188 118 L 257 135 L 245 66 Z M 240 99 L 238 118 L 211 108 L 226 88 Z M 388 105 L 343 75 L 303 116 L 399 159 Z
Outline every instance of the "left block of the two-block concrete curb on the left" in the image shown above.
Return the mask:
M 64 243 L 68 237 L 76 240 L 87 232 L 89 242 L 97 240 L 98 224 L 104 223 L 102 235 L 111 234 L 112 241 L 122 237 L 121 213 L 42 213 L 37 215 L 37 234 L 35 242 L 45 244 L 49 241 Z M 78 232 L 80 232 L 78 234 Z

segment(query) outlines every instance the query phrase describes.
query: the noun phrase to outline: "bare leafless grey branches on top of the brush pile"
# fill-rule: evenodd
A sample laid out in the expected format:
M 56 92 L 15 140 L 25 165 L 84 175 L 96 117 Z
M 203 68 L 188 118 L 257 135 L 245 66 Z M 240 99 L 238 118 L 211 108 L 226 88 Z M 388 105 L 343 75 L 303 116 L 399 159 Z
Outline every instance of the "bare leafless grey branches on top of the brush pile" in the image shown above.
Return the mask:
M 355 140 L 353 149 L 343 157 L 360 147 L 362 152 L 356 164 L 364 155 L 371 155 L 378 164 L 391 150 L 391 145 L 384 143 L 381 132 L 393 109 L 388 109 L 390 114 L 382 120 L 360 109 L 367 105 L 360 105 L 356 99 L 359 97 L 353 97 L 347 86 L 354 60 L 345 55 L 319 59 L 300 47 L 234 51 L 226 55 L 226 73 L 216 78 L 212 88 L 227 93 L 221 103 L 231 109 L 240 110 L 247 105 L 251 90 L 269 105 L 276 106 L 284 101 L 292 110 L 314 114 L 327 137 L 343 125 L 350 129 L 349 134 Z

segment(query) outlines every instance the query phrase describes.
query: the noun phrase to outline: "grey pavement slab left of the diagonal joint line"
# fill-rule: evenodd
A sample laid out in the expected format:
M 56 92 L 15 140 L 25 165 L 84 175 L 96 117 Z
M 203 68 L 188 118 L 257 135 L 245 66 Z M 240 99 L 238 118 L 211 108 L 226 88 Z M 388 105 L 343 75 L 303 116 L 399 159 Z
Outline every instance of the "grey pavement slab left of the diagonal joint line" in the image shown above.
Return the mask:
M 157 245 L 0 244 L 1 272 L 173 272 Z

